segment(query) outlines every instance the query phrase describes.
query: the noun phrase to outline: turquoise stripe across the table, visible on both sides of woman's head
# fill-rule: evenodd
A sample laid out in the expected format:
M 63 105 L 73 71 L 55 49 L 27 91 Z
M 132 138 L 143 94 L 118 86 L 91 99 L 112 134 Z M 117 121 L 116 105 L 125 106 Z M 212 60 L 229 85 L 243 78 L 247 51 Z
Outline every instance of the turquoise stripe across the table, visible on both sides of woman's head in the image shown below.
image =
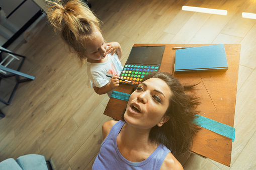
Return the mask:
M 128 101 L 130 94 L 127 93 L 122 93 L 122 92 L 118 92 L 118 91 L 113 91 L 111 94 L 111 97 L 116 98 L 116 99 L 120 99 L 120 100 L 124 100 L 124 101 Z M 223 136 L 229 137 L 232 139 L 232 141 L 235 140 L 235 128 L 228 126 L 226 124 L 217 122 L 215 120 L 209 119 L 207 117 L 204 116 L 200 116 L 200 115 L 196 115 L 196 119 L 195 122 L 203 128 L 206 128 L 208 130 L 211 130 L 215 133 L 221 134 Z

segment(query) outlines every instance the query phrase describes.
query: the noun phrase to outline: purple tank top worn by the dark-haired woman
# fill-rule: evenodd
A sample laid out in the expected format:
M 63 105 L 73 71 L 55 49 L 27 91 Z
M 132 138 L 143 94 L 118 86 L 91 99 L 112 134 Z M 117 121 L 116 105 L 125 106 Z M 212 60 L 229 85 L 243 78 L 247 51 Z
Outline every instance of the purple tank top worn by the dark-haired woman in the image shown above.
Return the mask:
M 163 144 L 159 144 L 154 152 L 141 162 L 131 162 L 122 156 L 117 147 L 117 135 L 124 124 L 125 122 L 120 120 L 113 125 L 101 144 L 93 169 L 160 169 L 164 158 L 170 152 Z

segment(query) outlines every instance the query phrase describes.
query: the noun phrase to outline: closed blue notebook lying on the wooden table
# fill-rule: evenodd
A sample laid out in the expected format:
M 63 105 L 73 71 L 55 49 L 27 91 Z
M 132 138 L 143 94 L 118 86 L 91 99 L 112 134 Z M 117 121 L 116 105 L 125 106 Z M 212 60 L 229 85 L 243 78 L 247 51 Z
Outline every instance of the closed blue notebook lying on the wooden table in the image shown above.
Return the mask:
M 224 44 L 176 50 L 175 72 L 227 70 Z

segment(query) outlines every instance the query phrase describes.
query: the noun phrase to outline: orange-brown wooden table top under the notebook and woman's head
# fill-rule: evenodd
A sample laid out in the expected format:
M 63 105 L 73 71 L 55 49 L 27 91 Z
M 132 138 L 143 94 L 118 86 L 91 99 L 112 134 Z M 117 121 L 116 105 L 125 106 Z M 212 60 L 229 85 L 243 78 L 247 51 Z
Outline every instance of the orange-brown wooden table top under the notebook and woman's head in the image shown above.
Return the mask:
M 197 108 L 200 115 L 233 127 L 241 45 L 225 44 L 227 71 L 197 73 L 174 73 L 173 47 L 199 47 L 213 44 L 134 44 L 134 47 L 162 45 L 165 46 L 165 50 L 159 71 L 173 73 L 183 85 L 200 82 L 194 90 L 196 95 L 201 97 L 201 104 Z M 120 84 L 115 90 L 130 94 L 131 86 Z M 126 101 L 111 97 L 104 114 L 121 120 L 126 104 Z M 231 150 L 232 139 L 205 128 L 197 133 L 192 147 L 193 152 L 227 166 L 230 166 Z

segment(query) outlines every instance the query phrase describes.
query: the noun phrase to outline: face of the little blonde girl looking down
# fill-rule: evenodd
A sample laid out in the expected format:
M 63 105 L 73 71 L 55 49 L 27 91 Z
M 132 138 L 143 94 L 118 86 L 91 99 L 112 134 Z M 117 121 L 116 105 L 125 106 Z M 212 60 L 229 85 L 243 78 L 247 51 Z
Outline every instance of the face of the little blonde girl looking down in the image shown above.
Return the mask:
M 95 39 L 87 44 L 87 61 L 91 63 L 99 63 L 103 61 L 107 55 L 107 46 L 104 42 L 102 34 L 99 31 L 95 33 Z

